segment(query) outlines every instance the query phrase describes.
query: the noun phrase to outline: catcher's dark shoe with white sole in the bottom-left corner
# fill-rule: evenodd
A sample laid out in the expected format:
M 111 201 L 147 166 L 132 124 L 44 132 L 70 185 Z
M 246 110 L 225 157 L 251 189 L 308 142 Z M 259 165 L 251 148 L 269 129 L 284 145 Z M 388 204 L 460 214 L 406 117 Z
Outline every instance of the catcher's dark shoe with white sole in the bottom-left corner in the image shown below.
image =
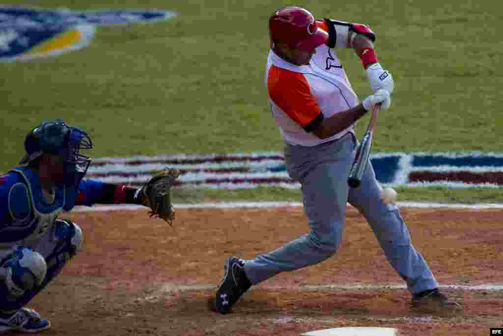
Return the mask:
M 38 332 L 48 329 L 51 323 L 30 308 L 21 308 L 14 314 L 0 313 L 0 332 Z

